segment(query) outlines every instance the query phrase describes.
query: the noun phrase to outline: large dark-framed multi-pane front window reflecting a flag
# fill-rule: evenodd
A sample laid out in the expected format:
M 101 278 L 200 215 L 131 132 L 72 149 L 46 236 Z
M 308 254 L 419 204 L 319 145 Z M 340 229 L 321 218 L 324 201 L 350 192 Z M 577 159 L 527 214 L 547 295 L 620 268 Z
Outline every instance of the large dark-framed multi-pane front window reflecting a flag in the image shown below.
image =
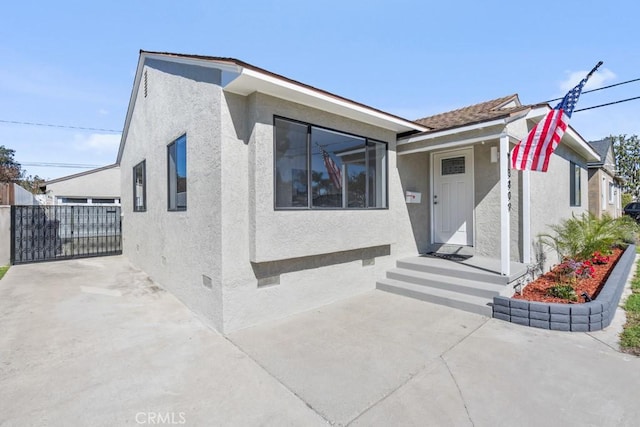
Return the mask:
M 387 144 L 275 119 L 276 208 L 387 207 Z

